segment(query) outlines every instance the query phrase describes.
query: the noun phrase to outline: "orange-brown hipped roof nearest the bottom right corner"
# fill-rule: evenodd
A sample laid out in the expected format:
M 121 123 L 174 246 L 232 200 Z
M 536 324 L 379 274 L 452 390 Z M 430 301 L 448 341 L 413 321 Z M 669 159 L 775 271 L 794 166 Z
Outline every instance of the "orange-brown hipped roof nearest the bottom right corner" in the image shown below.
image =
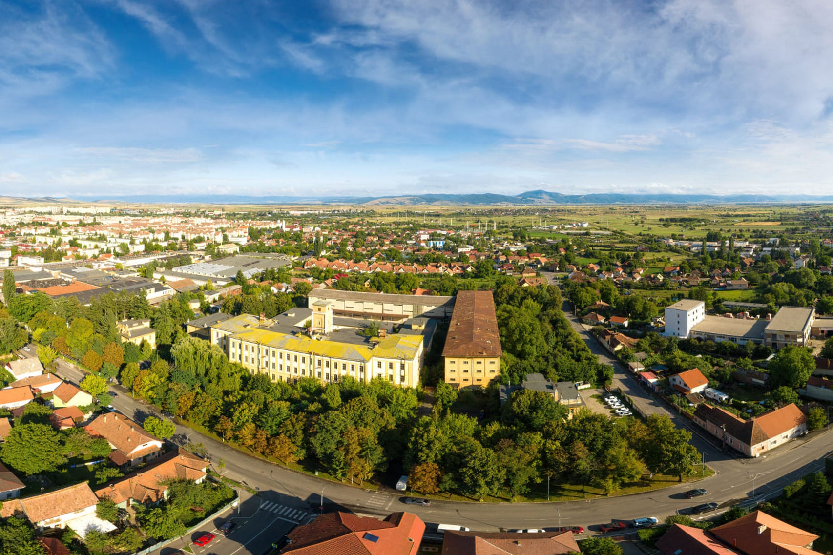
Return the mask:
M 818 536 L 781 522 L 766 512 L 751 512 L 746 517 L 711 528 L 711 533 L 750 555 L 774 555 L 775 553 L 821 555 L 805 547 L 816 541 Z

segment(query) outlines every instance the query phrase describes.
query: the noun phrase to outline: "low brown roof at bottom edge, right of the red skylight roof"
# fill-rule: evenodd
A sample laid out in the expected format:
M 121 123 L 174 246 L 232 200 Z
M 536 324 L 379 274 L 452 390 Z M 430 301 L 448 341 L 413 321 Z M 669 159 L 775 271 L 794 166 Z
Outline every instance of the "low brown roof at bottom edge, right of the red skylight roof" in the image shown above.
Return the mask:
M 446 532 L 442 555 L 556 555 L 578 552 L 572 532 Z

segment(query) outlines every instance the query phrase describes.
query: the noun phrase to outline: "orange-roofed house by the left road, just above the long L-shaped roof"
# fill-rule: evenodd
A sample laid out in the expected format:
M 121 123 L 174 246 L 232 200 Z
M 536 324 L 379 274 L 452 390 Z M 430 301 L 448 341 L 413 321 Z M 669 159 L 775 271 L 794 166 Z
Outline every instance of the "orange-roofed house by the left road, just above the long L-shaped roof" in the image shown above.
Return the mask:
M 119 467 L 135 467 L 162 455 L 162 440 L 122 414 L 102 414 L 85 429 L 90 435 L 110 443 L 113 448 L 110 460 Z

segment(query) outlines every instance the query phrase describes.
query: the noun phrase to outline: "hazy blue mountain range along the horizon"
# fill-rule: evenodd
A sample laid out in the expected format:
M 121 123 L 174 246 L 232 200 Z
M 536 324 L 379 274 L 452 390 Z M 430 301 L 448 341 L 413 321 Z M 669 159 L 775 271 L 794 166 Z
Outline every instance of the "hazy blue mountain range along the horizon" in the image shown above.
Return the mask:
M 115 198 L 17 198 L 0 197 L 0 206 L 24 203 L 148 203 L 148 204 L 327 204 L 357 206 L 540 206 L 557 204 L 737 204 L 737 203 L 833 203 L 833 195 L 708 195 L 708 194 L 636 194 L 589 193 L 567 195 L 536 190 L 516 196 L 496 193 L 422 194 L 396 197 L 252 197 L 244 195 L 128 195 Z

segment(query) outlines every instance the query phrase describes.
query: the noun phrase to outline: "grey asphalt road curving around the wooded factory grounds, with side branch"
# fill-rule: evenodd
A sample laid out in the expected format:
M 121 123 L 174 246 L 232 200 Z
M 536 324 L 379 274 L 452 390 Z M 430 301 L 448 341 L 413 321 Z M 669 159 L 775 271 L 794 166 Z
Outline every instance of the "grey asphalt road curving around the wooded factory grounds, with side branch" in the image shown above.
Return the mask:
M 566 314 L 570 316 L 570 313 Z M 668 413 L 661 402 L 641 388 L 620 364 L 607 357 L 596 339 L 586 333 L 575 319 L 571 318 L 571 322 L 591 350 L 599 355 L 600 361 L 613 364 L 616 369 L 616 386 L 621 387 L 646 413 Z M 35 355 L 33 352 L 20 354 Z M 78 368 L 62 360 L 57 360 L 56 373 L 76 384 L 82 378 L 82 372 Z M 149 415 L 159 416 L 156 408 L 131 398 L 122 388 L 113 389 L 114 393 L 117 393 L 112 402 L 113 406 L 128 417 L 141 423 Z M 327 510 L 342 508 L 372 515 L 387 515 L 390 512 L 407 510 L 416 513 L 426 522 L 461 524 L 472 530 L 557 527 L 560 512 L 562 526 L 582 526 L 589 532 L 598 532 L 600 523 L 645 516 L 663 519 L 706 501 L 719 502 L 720 510 L 726 510 L 735 502 L 751 498 L 753 487 L 756 499 L 760 500 L 775 495 L 787 483 L 805 473 L 821 470 L 824 468 L 826 454 L 831 451 L 831 440 L 827 431 L 824 431 L 794 440 L 761 458 L 736 458 L 732 454 L 721 453 L 720 448 L 711 443 L 713 440 L 701 436 L 699 429 L 691 428 L 686 418 L 674 413 L 671 413 L 671 418 L 675 419 L 677 425 L 686 426 L 694 433 L 692 443 L 705 453 L 706 463 L 716 471 L 714 476 L 696 483 L 675 484 L 669 488 L 626 497 L 578 499 L 559 503 L 434 501 L 431 507 L 406 505 L 402 503 L 402 494 L 390 489 L 371 491 L 297 473 L 253 458 L 179 424 L 175 438 L 179 443 L 202 443 L 215 468 L 222 459 L 225 463 L 222 473 L 228 478 L 258 489 L 264 503 L 279 502 L 282 505 L 309 510 L 318 507 L 323 499 Z M 695 487 L 707 488 L 709 493 L 693 500 L 682 495 L 687 489 Z M 715 514 L 713 512 L 706 517 Z

